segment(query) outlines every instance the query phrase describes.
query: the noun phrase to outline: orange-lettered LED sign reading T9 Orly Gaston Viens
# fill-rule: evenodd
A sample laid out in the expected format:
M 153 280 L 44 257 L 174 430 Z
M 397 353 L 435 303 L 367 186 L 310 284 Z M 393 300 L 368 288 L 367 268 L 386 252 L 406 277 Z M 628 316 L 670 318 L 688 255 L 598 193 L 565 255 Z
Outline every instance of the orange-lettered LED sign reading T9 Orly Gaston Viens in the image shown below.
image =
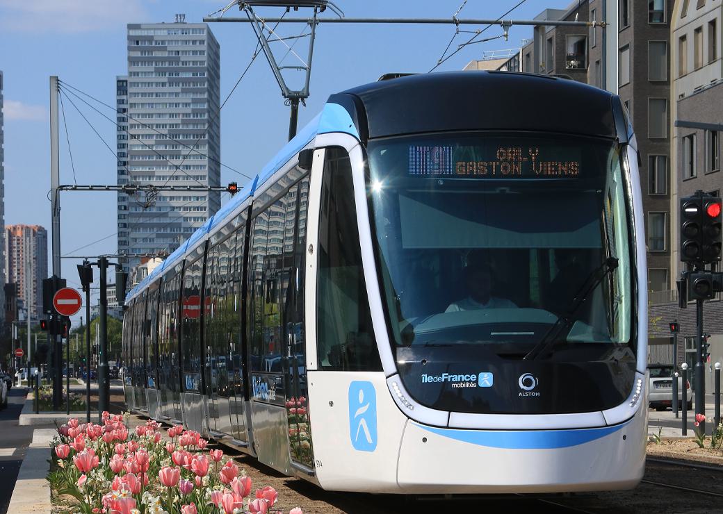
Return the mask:
M 555 146 L 410 146 L 409 175 L 459 178 L 576 178 L 580 152 Z

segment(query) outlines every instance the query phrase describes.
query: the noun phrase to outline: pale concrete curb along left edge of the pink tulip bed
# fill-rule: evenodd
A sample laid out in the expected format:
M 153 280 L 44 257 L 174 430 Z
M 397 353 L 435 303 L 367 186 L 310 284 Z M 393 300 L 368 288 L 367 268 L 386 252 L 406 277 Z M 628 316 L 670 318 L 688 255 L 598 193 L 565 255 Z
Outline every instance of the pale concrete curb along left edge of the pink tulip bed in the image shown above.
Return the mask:
M 33 432 L 33 442 L 27 447 L 22 459 L 12 497 L 7 507 L 8 513 L 50 513 L 53 505 L 50 500 L 50 484 L 46 480 L 51 458 L 50 442 L 55 430 L 44 429 Z

